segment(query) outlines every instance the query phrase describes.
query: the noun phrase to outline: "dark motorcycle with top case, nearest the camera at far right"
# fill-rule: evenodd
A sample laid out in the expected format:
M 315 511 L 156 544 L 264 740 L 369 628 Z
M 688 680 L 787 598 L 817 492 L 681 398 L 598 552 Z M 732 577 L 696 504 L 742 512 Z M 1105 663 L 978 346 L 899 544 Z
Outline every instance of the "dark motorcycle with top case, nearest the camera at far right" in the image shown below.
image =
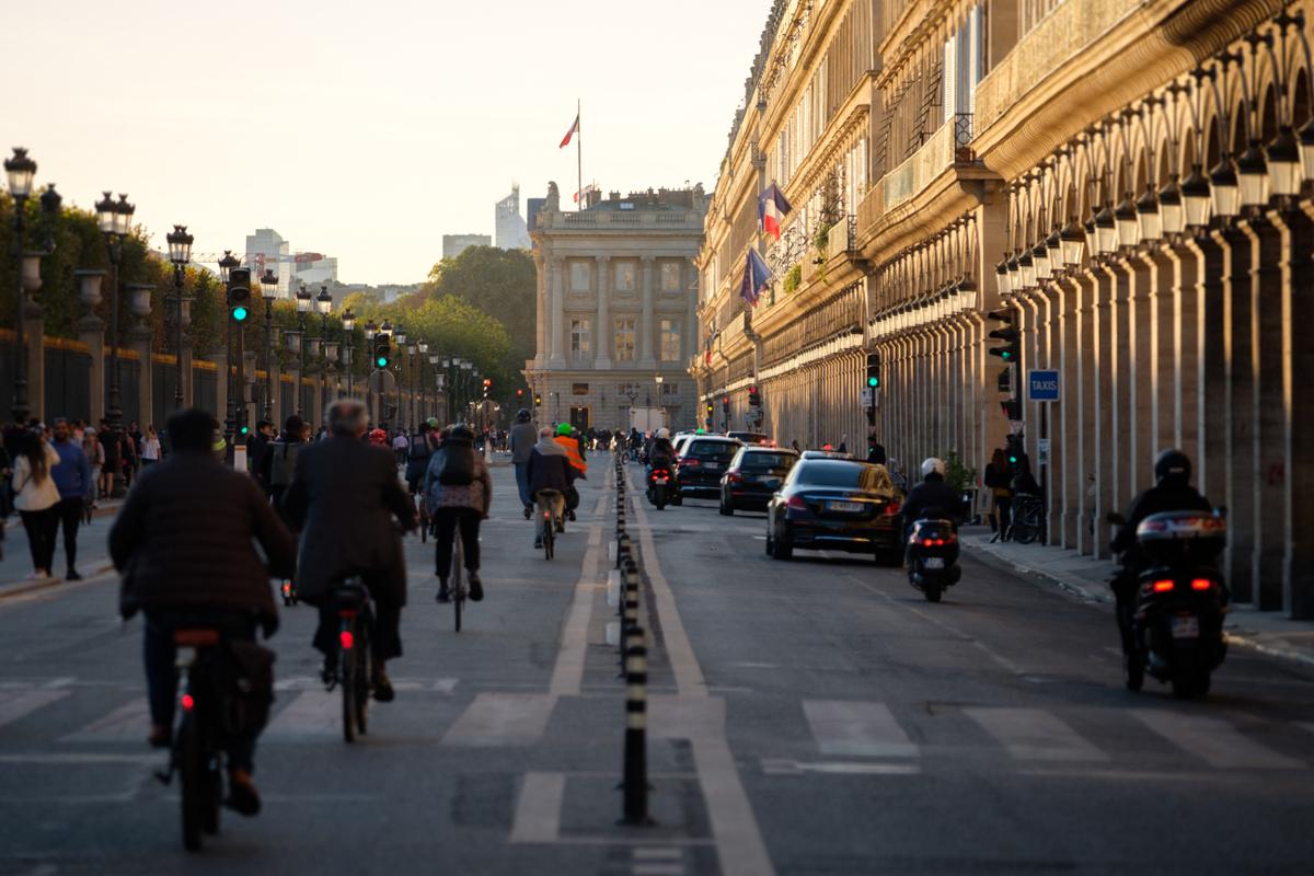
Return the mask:
M 1106 519 L 1127 525 L 1118 514 Z M 1137 588 L 1133 651 L 1126 658 L 1129 691 L 1139 691 L 1148 672 L 1171 684 L 1179 699 L 1209 693 L 1213 671 L 1227 655 L 1222 628 L 1230 594 L 1214 562 L 1226 542 L 1221 510 L 1154 514 L 1137 527 L 1137 548 L 1148 562 L 1129 582 Z

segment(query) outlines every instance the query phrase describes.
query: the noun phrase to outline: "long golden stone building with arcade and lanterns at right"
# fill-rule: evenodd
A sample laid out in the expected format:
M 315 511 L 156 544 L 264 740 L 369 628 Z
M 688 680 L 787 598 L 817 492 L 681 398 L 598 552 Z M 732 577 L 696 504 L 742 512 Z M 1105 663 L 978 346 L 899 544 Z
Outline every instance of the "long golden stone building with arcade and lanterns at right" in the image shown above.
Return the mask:
M 1021 429 L 1049 541 L 1087 554 L 1106 554 L 1104 515 L 1152 482 L 1159 448 L 1179 445 L 1229 507 L 1235 599 L 1314 616 L 1302 546 L 1314 411 L 1301 403 L 1314 347 L 1296 332 L 1314 302 L 1310 5 L 781 0 L 699 260 L 711 361 L 690 365 L 704 391 L 757 380 L 779 437 L 821 418 L 830 424 L 813 424 L 811 440 L 834 440 L 840 423 L 851 441 L 862 376 L 845 351 L 876 353 L 875 428 L 892 456 L 953 450 L 980 471 Z M 840 76 L 845 21 L 869 14 L 867 72 Z M 834 93 L 848 95 L 840 112 Z M 816 168 L 838 171 L 861 101 L 870 148 L 857 197 L 824 218 L 804 213 L 848 190 Z M 800 242 L 771 261 L 774 298 L 742 313 L 723 272 L 749 246 L 767 250 L 745 215 L 771 181 L 795 205 Z M 842 246 L 830 225 L 841 217 Z M 850 271 L 865 286 L 859 323 L 834 289 Z M 796 339 L 773 348 L 782 299 L 800 302 Z M 1007 391 L 991 356 L 1001 341 L 988 336 L 999 310 L 1021 331 L 1022 380 Z M 782 357 L 809 369 L 811 408 L 787 387 L 779 398 Z M 1059 401 L 1025 394 L 1030 369 L 1059 372 Z M 848 410 L 827 401 L 837 377 Z M 1018 420 L 1005 401 L 1020 402 Z

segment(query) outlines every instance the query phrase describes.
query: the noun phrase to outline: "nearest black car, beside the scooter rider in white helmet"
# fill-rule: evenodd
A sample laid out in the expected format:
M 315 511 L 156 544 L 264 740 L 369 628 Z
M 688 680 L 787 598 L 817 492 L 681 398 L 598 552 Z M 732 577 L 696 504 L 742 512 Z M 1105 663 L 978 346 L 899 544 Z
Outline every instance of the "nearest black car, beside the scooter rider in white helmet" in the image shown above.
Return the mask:
M 766 553 L 788 559 L 795 548 L 845 550 L 899 563 L 899 510 L 883 465 L 804 453 L 766 508 Z

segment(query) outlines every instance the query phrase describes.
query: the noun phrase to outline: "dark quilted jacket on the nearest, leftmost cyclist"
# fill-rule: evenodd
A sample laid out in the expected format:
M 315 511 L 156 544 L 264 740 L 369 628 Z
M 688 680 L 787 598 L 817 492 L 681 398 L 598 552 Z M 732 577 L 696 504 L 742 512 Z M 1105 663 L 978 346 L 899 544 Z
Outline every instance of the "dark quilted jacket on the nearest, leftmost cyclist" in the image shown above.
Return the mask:
M 255 550 L 260 544 L 265 558 Z M 210 453 L 171 453 L 127 493 L 109 531 L 120 611 L 233 609 L 279 621 L 269 578 L 290 578 L 296 545 L 248 475 Z

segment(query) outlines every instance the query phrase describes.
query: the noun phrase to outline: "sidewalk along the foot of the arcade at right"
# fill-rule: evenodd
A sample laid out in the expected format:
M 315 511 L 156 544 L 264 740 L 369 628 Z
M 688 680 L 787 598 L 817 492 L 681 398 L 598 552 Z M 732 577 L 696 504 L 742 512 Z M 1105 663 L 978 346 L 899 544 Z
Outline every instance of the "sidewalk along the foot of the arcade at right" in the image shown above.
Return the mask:
M 1108 580 L 1114 565 L 1108 559 L 1056 546 L 991 544 L 986 527 L 963 527 L 959 537 L 964 549 L 992 566 L 1059 587 L 1087 603 L 1113 605 Z M 1314 667 L 1314 621 L 1234 605 L 1223 630 L 1233 645 Z

